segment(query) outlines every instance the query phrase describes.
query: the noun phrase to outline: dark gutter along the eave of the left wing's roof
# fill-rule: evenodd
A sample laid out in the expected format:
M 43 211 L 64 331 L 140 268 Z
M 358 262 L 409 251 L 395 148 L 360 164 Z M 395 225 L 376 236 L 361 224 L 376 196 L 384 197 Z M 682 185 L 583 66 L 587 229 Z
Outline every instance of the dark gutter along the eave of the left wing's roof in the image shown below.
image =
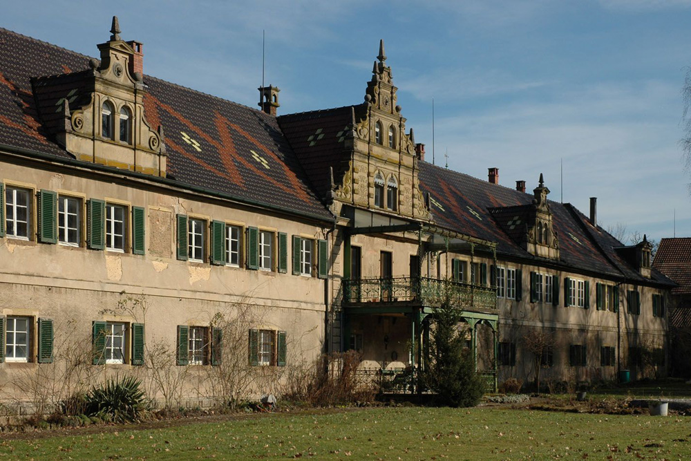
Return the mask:
M 162 178 L 160 176 L 151 176 L 148 174 L 144 173 L 139 173 L 137 171 L 129 171 L 129 170 L 123 170 L 123 169 L 118 169 L 115 167 L 107 167 L 106 165 L 102 164 L 97 164 L 97 163 L 89 163 L 89 162 L 84 162 L 82 160 L 76 160 L 74 158 L 62 158 L 62 157 L 57 157 L 49 153 L 42 153 L 38 151 L 32 151 L 30 149 L 23 149 L 21 147 L 15 147 L 15 146 L 10 146 L 8 144 L 2 144 L 0 143 L 0 151 L 4 151 L 10 155 L 15 154 L 19 156 L 28 156 L 28 157 L 33 157 L 34 159 L 32 160 L 44 160 L 46 162 L 50 163 L 62 163 L 69 165 L 71 167 L 77 167 L 79 169 L 88 169 L 88 170 L 95 170 L 95 171 L 100 171 L 102 173 L 111 173 L 115 174 L 117 176 L 126 176 L 130 177 L 133 179 L 137 180 L 144 180 L 146 182 L 155 182 L 158 183 L 159 185 L 162 186 L 167 186 L 172 189 L 176 190 L 187 190 L 191 192 L 196 192 L 198 194 L 204 194 L 206 196 L 211 196 L 214 198 L 221 198 L 223 200 L 230 200 L 231 202 L 238 203 L 239 205 L 250 205 L 252 207 L 258 207 L 258 208 L 263 208 L 263 209 L 271 209 L 274 211 L 279 211 L 281 214 L 287 214 L 289 216 L 292 215 L 297 215 L 301 216 L 303 218 L 310 218 L 312 220 L 317 220 L 322 223 L 331 223 L 332 220 L 325 216 L 318 216 L 316 214 L 312 213 L 307 213 L 305 211 L 296 211 L 296 210 L 287 210 L 283 207 L 278 207 L 277 205 L 270 205 L 267 203 L 262 203 L 257 200 L 252 200 L 249 198 L 240 198 L 236 196 L 232 196 L 231 194 L 225 194 L 223 192 L 219 191 L 214 191 L 212 189 L 206 189 L 205 187 L 200 187 L 200 186 L 194 186 L 194 185 L 188 185 L 184 184 L 182 182 L 172 180 L 169 178 Z M 329 211 L 329 214 L 331 212 Z M 334 216 L 335 219 L 335 216 Z

